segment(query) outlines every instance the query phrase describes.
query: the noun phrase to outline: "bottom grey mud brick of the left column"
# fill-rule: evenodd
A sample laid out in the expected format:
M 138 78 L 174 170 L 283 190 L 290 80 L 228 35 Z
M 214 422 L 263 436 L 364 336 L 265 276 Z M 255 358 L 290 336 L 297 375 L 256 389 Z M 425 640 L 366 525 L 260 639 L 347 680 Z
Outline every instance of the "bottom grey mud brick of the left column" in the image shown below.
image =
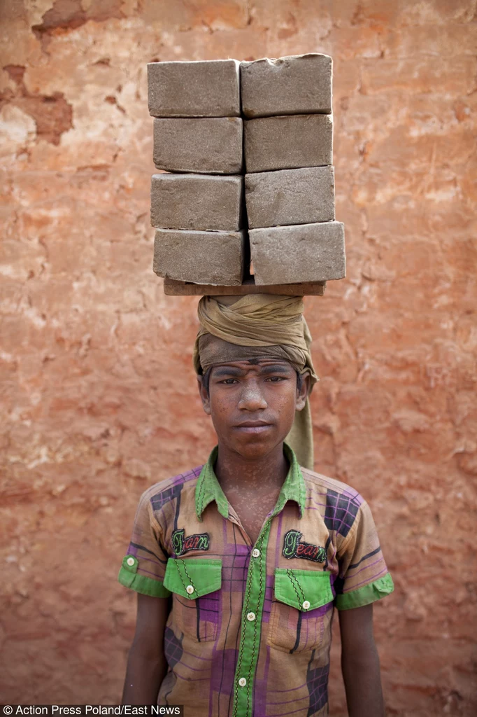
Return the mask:
M 195 284 L 237 286 L 244 277 L 244 232 L 156 229 L 153 270 Z

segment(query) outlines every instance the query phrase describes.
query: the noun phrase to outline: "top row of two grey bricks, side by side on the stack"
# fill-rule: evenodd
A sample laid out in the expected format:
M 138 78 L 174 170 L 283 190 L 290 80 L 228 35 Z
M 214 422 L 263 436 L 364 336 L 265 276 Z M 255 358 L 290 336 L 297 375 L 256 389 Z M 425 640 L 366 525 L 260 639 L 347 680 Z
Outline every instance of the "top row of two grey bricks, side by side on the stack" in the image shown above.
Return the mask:
M 270 117 L 332 112 L 332 58 L 150 62 L 153 117 Z

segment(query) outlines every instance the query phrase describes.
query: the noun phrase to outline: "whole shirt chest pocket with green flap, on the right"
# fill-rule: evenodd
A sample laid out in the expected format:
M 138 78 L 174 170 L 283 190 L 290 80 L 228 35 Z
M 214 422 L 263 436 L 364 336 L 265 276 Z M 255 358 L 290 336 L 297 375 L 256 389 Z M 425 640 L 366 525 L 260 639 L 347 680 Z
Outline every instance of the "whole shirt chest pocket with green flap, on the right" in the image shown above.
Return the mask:
M 329 571 L 276 568 L 268 645 L 290 653 L 322 645 L 333 614 L 330 575 Z

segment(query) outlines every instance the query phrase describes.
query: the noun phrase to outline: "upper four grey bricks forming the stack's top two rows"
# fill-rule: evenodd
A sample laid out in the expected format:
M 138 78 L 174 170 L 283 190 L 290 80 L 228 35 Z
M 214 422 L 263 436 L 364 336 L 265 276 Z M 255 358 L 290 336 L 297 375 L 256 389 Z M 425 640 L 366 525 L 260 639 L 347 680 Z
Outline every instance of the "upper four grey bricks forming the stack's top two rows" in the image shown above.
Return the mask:
M 328 55 L 151 62 L 148 87 L 158 169 L 241 174 L 332 164 Z

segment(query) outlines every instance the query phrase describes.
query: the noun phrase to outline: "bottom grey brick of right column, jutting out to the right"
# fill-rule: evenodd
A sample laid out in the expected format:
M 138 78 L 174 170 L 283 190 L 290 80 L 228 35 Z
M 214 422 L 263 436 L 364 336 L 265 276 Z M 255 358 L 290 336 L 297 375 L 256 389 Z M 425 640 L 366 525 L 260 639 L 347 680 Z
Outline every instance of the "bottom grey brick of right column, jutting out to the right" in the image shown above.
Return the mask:
M 328 281 L 346 273 L 342 222 L 251 229 L 249 234 L 257 285 Z

